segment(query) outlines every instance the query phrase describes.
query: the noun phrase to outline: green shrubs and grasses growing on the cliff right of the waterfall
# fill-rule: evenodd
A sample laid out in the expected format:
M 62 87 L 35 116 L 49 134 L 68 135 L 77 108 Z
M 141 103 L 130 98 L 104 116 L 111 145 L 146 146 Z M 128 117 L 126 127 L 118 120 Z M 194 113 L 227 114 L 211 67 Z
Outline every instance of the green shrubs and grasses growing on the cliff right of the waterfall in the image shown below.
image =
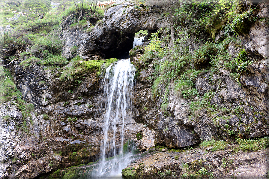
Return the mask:
M 148 3 L 160 5 L 165 2 Z M 257 6 L 246 1 L 186 1 L 174 4 L 171 8 L 173 11 L 164 9 L 158 20 L 172 18 L 173 34 L 171 26 L 163 26 L 152 33 L 149 44 L 142 50 L 143 55 L 136 64 L 139 68 L 147 68 L 149 63 L 154 64 L 152 97 L 154 100 L 162 99 L 161 109 L 167 116 L 171 115 L 167 111 L 168 94 L 173 90 L 176 96 L 190 100 L 190 113 L 193 117 L 198 119 L 199 111 L 205 109 L 209 118 L 219 118 L 216 114 L 225 109 L 212 102 L 215 91 L 199 94 L 195 86 L 196 79 L 209 74 L 205 78 L 213 85 L 213 76 L 221 75 L 221 71 L 226 70 L 229 71 L 229 77 L 240 86 L 240 75 L 247 73 L 247 67 L 254 59 L 248 58 L 238 35 L 248 33 L 256 20 L 263 19 L 256 17 Z M 172 45 L 171 36 L 175 36 Z M 231 44 L 238 51 L 236 57 L 229 55 L 228 47 Z M 131 50 L 132 58 L 135 56 L 133 52 L 139 48 L 141 47 Z M 171 83 L 173 89 L 169 86 Z M 162 85 L 165 85 L 165 91 Z M 237 108 L 230 110 L 228 118 L 237 115 Z M 227 132 L 229 136 L 242 138 L 241 132 L 232 129 L 227 129 Z

